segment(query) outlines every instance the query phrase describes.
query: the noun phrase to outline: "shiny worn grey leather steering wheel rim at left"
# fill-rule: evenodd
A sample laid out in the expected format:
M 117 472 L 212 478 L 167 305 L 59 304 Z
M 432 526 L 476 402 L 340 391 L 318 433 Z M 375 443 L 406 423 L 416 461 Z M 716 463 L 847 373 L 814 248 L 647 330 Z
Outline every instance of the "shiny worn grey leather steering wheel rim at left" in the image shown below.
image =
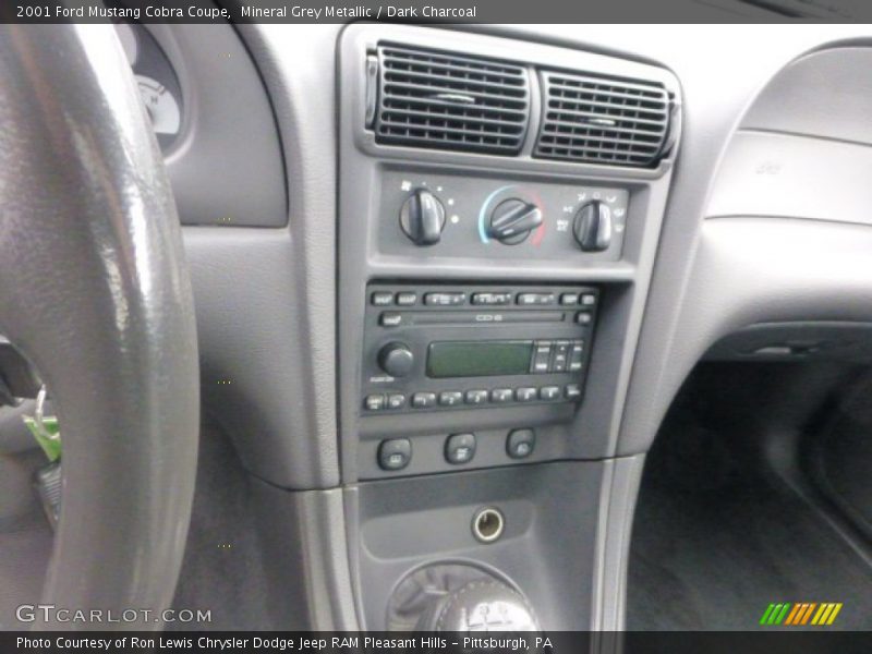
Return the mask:
M 0 332 L 48 384 L 64 445 L 43 601 L 155 611 L 34 626 L 160 628 L 199 426 L 193 298 L 162 157 L 109 25 L 0 25 Z

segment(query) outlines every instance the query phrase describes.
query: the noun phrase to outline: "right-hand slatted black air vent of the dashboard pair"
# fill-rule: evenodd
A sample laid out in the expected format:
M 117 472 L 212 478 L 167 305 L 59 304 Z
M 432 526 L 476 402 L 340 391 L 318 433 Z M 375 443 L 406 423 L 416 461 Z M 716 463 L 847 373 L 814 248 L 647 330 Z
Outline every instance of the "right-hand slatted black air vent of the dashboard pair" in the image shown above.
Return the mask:
M 655 166 L 669 130 L 663 86 L 542 72 L 542 126 L 535 157 L 613 166 Z

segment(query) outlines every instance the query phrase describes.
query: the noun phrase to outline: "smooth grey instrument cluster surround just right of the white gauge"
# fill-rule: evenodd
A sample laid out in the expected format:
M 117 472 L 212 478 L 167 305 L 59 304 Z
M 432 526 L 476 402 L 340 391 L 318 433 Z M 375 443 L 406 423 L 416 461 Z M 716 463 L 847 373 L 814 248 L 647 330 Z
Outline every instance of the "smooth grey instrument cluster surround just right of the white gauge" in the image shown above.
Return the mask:
M 181 132 L 166 164 L 182 223 L 287 225 L 281 138 L 261 75 L 233 27 L 147 29 L 181 86 Z

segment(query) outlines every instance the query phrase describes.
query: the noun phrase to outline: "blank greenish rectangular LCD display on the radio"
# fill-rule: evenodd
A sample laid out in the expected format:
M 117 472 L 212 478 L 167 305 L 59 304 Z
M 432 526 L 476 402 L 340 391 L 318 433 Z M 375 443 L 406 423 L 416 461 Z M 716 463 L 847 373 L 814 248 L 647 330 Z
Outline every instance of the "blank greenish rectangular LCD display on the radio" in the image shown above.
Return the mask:
M 427 377 L 528 375 L 533 341 L 445 341 L 429 344 Z

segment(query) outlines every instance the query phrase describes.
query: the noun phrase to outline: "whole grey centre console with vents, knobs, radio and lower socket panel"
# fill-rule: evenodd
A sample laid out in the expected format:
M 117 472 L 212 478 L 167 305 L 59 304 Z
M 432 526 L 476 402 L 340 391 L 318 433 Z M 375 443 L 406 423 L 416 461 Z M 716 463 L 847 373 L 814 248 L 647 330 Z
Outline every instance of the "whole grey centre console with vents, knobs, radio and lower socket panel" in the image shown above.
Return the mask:
M 640 464 L 614 457 L 678 83 L 402 25 L 351 25 L 339 52 L 339 443 L 364 626 L 403 623 L 404 580 L 460 565 L 544 629 L 616 628 L 595 580 Z

